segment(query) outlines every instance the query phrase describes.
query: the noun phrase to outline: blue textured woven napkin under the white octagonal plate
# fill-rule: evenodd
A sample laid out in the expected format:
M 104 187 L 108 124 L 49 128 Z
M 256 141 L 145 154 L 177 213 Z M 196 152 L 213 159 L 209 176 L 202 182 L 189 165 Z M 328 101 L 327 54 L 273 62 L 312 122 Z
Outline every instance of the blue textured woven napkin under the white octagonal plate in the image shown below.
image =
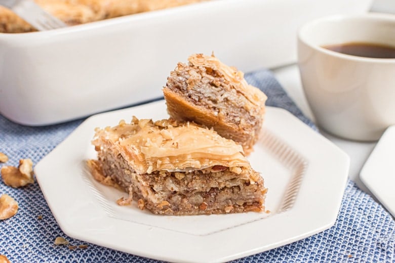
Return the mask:
M 316 129 L 271 72 L 253 72 L 247 74 L 246 79 L 267 94 L 267 105 L 285 108 Z M 21 158 L 31 158 L 33 163 L 37 163 L 82 121 L 26 127 L 0 115 L 0 152 L 9 156 L 7 165 L 17 166 Z M 54 246 L 57 236 L 66 238 L 73 245 L 86 242 L 69 238 L 60 230 L 37 183 L 21 189 L 0 183 L 2 193 L 19 202 L 18 213 L 0 222 L 0 254 L 6 255 L 11 262 L 157 262 L 92 244 L 86 249 L 72 251 L 66 246 Z M 60 194 L 67 198 L 68 193 Z M 39 220 L 38 215 L 43 218 Z M 394 262 L 394 250 L 393 218 L 380 204 L 348 181 L 333 227 L 301 241 L 234 262 Z

